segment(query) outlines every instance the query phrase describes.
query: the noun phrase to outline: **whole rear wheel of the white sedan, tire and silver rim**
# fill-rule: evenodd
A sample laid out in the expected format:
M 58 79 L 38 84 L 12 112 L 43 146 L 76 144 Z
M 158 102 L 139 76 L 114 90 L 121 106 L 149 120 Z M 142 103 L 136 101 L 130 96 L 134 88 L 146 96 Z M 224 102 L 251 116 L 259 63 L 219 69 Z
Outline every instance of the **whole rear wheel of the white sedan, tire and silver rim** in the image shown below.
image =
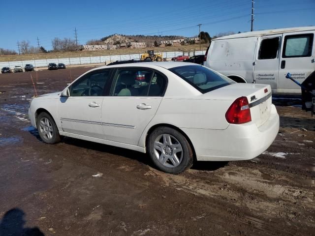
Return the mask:
M 193 163 L 188 140 L 170 127 L 158 127 L 150 134 L 148 150 L 155 166 L 166 173 L 179 174 Z

